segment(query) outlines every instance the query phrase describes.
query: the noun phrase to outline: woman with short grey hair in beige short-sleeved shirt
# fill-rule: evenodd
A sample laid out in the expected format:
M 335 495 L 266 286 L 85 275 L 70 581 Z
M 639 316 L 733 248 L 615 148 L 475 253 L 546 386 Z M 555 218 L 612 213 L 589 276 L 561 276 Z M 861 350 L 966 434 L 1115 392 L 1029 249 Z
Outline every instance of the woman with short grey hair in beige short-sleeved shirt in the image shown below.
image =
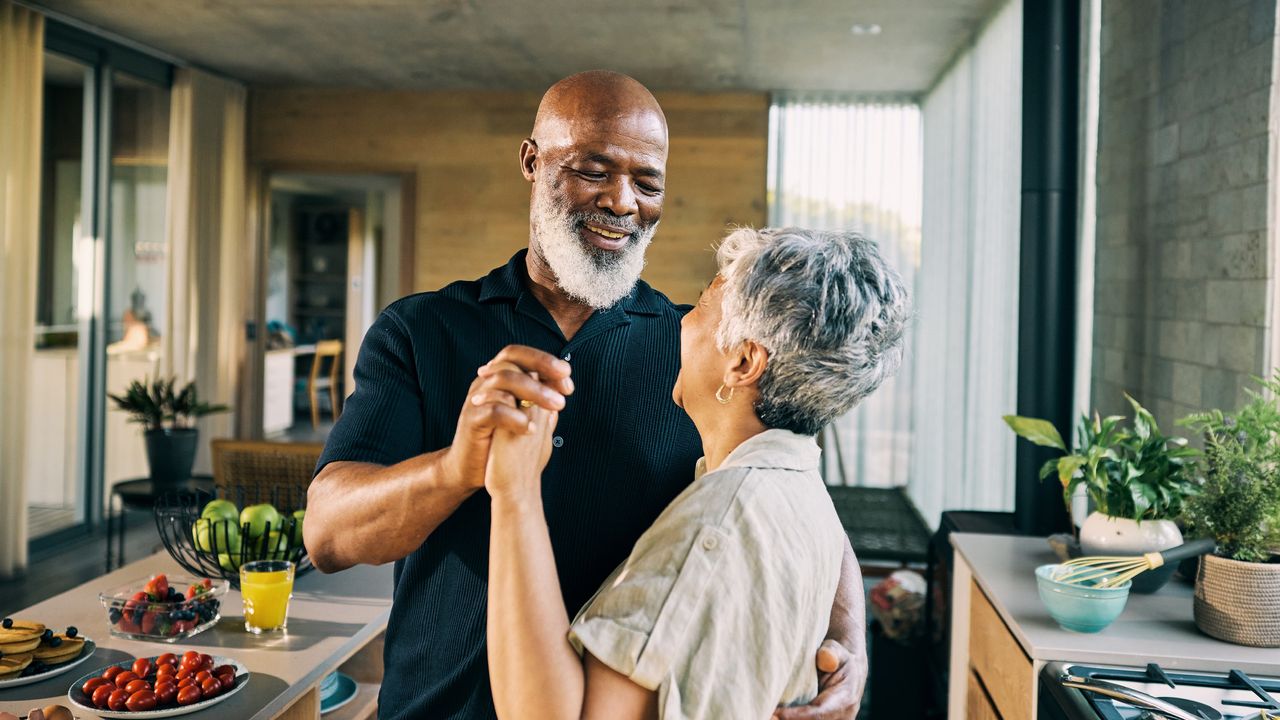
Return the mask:
M 739 229 L 685 315 L 672 397 L 695 480 L 570 624 L 541 511 L 556 415 L 499 432 L 485 487 L 489 674 L 503 720 L 765 719 L 818 692 L 842 529 L 814 436 L 901 363 L 908 297 L 854 233 Z

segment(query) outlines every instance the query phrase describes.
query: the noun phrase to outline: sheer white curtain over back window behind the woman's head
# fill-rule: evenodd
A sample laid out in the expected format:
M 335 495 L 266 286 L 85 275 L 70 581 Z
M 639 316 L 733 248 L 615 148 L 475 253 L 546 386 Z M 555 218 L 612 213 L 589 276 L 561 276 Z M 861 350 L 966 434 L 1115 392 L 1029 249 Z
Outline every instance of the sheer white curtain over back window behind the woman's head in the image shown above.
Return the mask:
M 920 264 L 919 106 L 777 97 L 769 135 L 769 224 L 860 232 L 914 287 Z M 897 378 L 823 430 L 828 484 L 906 484 L 914 355 L 909 336 Z

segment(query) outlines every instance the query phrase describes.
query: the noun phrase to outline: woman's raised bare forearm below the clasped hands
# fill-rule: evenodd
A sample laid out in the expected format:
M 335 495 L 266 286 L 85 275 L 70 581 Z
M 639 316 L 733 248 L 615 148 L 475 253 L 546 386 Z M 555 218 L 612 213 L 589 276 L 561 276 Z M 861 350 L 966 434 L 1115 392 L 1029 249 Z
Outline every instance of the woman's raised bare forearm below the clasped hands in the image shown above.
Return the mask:
M 493 500 L 489 536 L 489 682 L 502 720 L 582 714 L 582 661 L 568 643 L 541 501 Z

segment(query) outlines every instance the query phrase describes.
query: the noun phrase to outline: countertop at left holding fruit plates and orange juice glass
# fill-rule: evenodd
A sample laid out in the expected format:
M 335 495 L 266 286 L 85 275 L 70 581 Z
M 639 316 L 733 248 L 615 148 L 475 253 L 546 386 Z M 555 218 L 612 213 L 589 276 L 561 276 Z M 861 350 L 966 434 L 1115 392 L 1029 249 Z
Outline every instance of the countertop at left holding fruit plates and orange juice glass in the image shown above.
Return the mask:
M 96 667 L 163 652 L 197 650 L 234 657 L 248 667 L 251 676 L 244 689 L 193 714 L 193 719 L 319 717 L 319 683 L 339 666 L 360 682 L 360 693 L 355 702 L 325 719 L 371 715 L 381 679 L 381 638 L 390 615 L 390 565 L 361 565 L 333 575 L 310 573 L 300 578 L 289 601 L 289 629 L 283 634 L 252 635 L 244 632 L 241 594 L 230 589 L 221 602 L 221 621 L 196 637 L 177 643 L 113 637 L 97 593 L 140 578 L 145 580 L 156 573 L 187 574 L 166 552 L 159 552 L 14 612 L 13 618 L 36 620 L 55 632 L 76 625 L 97 643 L 97 652 L 56 678 L 0 689 L 0 710 L 22 715 L 49 703 L 69 705 L 67 691 L 70 683 Z M 140 582 L 138 589 L 141 585 Z M 77 717 L 88 720 L 97 715 L 81 714 Z

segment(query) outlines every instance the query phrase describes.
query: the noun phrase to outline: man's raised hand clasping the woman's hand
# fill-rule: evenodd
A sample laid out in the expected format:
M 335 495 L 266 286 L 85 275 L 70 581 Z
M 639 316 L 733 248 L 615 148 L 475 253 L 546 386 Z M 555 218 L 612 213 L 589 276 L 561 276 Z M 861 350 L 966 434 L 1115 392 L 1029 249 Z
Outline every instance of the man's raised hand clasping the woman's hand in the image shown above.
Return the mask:
M 521 411 L 520 401 L 559 411 L 564 397 L 573 392 L 568 363 L 524 345 L 502 348 L 476 375 L 445 457 L 449 475 L 468 488 L 484 487 L 494 430 L 530 432 L 530 419 Z

